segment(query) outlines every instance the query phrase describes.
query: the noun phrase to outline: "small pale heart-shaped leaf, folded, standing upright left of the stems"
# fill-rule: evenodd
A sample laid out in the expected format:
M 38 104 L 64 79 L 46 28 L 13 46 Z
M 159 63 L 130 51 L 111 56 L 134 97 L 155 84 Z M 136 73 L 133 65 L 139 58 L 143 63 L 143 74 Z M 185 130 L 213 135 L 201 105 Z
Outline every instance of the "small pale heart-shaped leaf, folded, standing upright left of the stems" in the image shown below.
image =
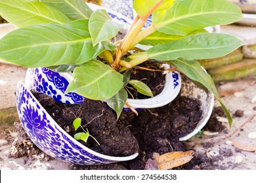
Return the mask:
M 121 27 L 123 25 L 113 22 L 106 10 L 96 10 L 89 20 L 89 31 L 93 38 L 93 45 L 114 37 Z

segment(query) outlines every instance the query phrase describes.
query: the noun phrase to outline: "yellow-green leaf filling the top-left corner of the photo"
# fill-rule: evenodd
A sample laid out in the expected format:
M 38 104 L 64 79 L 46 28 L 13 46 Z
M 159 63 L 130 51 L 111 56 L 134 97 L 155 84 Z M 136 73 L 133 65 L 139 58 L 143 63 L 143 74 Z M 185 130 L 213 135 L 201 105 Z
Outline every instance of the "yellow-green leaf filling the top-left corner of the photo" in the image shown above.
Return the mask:
M 0 0 L 0 15 L 18 27 L 70 22 L 70 19 L 59 10 L 37 0 Z

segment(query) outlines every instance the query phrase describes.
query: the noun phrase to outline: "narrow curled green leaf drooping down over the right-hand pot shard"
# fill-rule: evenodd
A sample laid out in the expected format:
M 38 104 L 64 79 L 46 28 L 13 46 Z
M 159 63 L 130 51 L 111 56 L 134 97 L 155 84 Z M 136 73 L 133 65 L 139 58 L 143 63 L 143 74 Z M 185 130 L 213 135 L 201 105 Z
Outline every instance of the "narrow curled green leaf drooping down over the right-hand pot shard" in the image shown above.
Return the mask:
M 205 86 L 207 90 L 213 93 L 215 97 L 219 100 L 221 103 L 221 106 L 224 109 L 224 112 L 226 113 L 226 116 L 228 118 L 229 125 L 232 125 L 232 117 L 230 116 L 230 113 L 228 112 L 228 109 L 225 107 L 223 101 L 221 100 L 221 97 L 219 97 L 219 94 L 217 92 L 217 89 L 215 87 L 215 84 L 213 82 L 213 79 L 211 76 L 203 71 L 200 63 L 198 61 L 194 60 L 185 60 L 185 59 L 175 59 L 172 61 L 165 61 L 175 69 L 181 71 L 184 75 L 186 75 L 191 80 L 194 80 L 195 82 L 198 82 Z

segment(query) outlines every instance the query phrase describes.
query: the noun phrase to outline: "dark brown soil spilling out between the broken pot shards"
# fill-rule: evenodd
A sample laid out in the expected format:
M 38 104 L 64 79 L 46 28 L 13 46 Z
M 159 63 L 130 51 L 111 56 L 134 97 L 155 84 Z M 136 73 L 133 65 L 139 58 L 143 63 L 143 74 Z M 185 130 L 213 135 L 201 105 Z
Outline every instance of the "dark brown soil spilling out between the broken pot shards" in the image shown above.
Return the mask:
M 179 137 L 190 133 L 202 114 L 196 99 L 181 96 L 164 107 L 138 110 L 138 116 L 124 110 L 117 120 L 116 113 L 101 101 L 85 99 L 81 105 L 70 105 L 56 103 L 47 95 L 34 95 L 72 137 L 81 132 L 75 131 L 72 124 L 75 118 L 81 118 L 83 127 L 100 143 L 96 144 L 92 138 L 87 143 L 81 141 L 92 150 L 109 156 L 139 152 L 138 158 L 129 161 L 131 165 L 125 165 L 127 169 L 144 169 L 146 160 L 152 158 L 154 152 L 184 151 Z

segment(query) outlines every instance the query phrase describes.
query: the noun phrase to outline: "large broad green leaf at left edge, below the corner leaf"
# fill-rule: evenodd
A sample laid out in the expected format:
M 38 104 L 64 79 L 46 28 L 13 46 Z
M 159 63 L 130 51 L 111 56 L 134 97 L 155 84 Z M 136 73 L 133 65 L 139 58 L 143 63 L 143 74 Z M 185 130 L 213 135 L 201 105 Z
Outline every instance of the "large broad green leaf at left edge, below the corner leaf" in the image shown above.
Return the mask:
M 0 40 L 0 58 L 24 67 L 79 65 L 114 48 L 110 42 L 93 46 L 88 20 L 76 20 L 66 25 L 39 24 L 12 31 Z

